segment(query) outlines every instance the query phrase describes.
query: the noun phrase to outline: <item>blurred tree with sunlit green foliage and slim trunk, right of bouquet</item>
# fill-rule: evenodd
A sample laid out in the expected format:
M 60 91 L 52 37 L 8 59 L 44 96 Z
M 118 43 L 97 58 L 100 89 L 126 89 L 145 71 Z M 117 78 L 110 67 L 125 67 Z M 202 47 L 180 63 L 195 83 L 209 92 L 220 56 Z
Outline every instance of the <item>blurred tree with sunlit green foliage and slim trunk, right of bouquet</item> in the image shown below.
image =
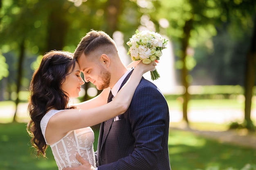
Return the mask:
M 166 29 L 166 33 L 177 42 L 175 53 L 180 60 L 176 62 L 176 66 L 181 69 L 181 82 L 184 86 L 183 120 L 187 125 L 189 125 L 187 109 L 190 99 L 188 88 L 192 82 L 189 71 L 195 66 L 193 48 L 216 35 L 214 24 L 218 23 L 220 15 L 221 9 L 214 0 L 163 0 L 162 9 L 157 15 L 158 19 L 166 18 L 171 24 Z

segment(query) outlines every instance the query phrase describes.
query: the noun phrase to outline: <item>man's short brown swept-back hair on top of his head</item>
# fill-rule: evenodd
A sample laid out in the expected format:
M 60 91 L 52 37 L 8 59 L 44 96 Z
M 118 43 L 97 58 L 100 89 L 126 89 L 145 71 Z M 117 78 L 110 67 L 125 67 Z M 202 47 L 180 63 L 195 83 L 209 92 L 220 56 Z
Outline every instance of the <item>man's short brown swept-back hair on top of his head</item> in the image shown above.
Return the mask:
M 117 47 L 115 41 L 103 31 L 90 31 L 80 41 L 74 52 L 76 60 L 84 53 L 89 55 L 93 52 L 99 53 L 117 53 Z

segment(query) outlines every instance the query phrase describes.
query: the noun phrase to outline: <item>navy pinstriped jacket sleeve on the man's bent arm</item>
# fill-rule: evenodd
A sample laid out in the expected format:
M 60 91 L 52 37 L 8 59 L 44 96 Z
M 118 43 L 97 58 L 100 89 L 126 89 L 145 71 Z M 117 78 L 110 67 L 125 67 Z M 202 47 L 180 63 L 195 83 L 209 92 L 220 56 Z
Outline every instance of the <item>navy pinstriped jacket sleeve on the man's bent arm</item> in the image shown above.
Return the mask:
M 128 109 L 135 148 L 128 157 L 99 166 L 98 170 L 154 169 L 166 138 L 164 130 L 169 124 L 168 114 L 166 100 L 156 87 L 138 87 Z

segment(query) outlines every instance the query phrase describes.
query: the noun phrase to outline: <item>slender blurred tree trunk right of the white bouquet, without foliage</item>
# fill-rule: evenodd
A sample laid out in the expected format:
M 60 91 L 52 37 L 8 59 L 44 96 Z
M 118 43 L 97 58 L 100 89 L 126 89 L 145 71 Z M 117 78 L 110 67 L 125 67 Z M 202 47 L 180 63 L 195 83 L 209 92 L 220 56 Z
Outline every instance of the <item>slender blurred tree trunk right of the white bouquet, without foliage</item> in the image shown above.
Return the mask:
M 187 48 L 189 46 L 189 38 L 190 38 L 190 31 L 192 29 L 192 24 L 193 20 L 188 20 L 186 21 L 184 27 L 183 27 L 183 32 L 184 32 L 184 37 L 182 39 L 182 63 L 183 63 L 183 68 L 182 68 L 182 85 L 184 86 L 185 92 L 182 95 L 183 97 L 183 120 L 189 125 L 189 119 L 188 119 L 188 114 L 187 114 L 187 109 L 188 109 L 188 103 L 190 99 L 190 94 L 188 92 L 189 88 L 189 82 L 187 80 L 187 77 L 189 75 L 189 71 L 186 68 L 186 56 L 187 56 Z

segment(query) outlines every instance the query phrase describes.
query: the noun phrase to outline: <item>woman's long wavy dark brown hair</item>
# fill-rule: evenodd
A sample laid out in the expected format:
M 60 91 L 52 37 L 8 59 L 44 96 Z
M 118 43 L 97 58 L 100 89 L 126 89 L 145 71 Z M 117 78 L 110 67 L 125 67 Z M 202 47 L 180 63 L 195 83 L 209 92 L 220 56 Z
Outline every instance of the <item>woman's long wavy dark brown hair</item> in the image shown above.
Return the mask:
M 50 51 L 43 56 L 39 68 L 33 74 L 29 86 L 28 111 L 31 120 L 27 124 L 27 132 L 32 137 L 31 144 L 38 156 L 45 157 L 47 149 L 40 127 L 43 116 L 52 108 L 69 109 L 69 97 L 61 89 L 61 84 L 65 81 L 65 77 L 74 70 L 75 64 L 76 60 L 72 53 Z

